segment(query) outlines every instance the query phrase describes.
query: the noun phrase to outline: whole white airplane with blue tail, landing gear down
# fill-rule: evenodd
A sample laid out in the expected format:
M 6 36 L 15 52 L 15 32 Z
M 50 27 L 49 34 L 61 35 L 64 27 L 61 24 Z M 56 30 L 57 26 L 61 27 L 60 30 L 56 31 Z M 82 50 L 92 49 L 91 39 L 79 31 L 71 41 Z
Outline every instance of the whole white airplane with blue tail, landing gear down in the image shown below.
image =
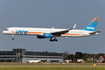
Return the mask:
M 95 31 L 99 17 L 95 17 L 84 29 L 75 29 L 76 24 L 71 29 L 52 28 L 32 28 L 32 27 L 9 27 L 3 31 L 3 34 L 11 35 L 31 35 L 37 36 L 38 39 L 50 38 L 49 41 L 58 41 L 56 37 L 87 37 L 96 35 L 101 31 Z

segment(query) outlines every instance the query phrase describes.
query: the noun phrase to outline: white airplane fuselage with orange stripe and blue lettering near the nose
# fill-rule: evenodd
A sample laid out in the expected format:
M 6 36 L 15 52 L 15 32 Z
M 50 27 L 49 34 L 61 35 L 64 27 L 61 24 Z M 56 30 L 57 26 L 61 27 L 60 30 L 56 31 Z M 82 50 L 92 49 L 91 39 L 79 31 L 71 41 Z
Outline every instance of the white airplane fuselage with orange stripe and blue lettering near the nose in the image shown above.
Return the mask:
M 3 31 L 3 34 L 8 35 L 43 35 L 44 33 L 52 33 L 63 31 L 67 29 L 55 29 L 55 28 L 28 28 L 28 27 L 10 27 Z M 93 31 L 73 29 L 69 32 L 62 34 L 60 37 L 84 37 L 89 36 Z

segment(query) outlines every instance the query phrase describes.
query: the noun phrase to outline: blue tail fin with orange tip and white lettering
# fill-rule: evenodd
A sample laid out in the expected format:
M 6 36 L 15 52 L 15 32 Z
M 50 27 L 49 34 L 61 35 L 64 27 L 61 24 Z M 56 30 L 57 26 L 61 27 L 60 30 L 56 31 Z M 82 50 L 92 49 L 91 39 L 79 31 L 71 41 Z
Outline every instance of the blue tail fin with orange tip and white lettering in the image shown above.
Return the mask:
M 90 22 L 89 25 L 84 30 L 86 30 L 86 31 L 95 31 L 98 20 L 99 20 L 99 17 L 95 17 L 92 20 L 92 22 Z

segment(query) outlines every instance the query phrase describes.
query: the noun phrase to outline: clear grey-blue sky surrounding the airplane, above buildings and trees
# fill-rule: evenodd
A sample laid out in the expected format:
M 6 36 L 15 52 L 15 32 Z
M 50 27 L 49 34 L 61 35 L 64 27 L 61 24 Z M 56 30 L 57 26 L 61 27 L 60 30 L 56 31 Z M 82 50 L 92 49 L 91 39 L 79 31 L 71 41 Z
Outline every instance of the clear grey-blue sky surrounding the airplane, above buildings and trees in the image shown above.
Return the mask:
M 85 28 L 100 17 L 98 35 L 83 38 L 37 39 L 36 36 L 2 34 L 7 27 Z M 29 51 L 105 53 L 105 0 L 0 0 L 0 50 L 26 48 Z

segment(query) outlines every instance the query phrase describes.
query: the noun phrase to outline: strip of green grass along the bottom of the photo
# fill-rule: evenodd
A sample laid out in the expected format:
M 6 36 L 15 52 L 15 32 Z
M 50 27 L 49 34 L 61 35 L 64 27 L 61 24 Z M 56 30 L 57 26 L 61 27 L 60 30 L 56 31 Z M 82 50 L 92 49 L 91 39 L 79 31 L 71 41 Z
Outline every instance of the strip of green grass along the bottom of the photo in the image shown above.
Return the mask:
M 0 65 L 0 70 L 105 70 L 105 65 Z

